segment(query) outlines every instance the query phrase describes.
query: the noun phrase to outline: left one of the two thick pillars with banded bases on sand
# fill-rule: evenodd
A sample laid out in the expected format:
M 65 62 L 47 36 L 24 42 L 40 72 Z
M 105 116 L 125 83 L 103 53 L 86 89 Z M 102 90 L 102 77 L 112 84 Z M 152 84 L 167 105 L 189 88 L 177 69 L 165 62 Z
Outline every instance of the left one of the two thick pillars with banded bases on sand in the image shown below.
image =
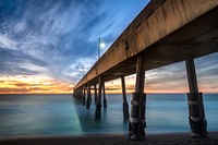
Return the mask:
M 131 117 L 129 126 L 130 140 L 145 138 L 145 104 L 146 95 L 144 94 L 145 71 L 143 69 L 143 57 L 138 56 L 136 64 L 136 82 L 135 93 L 132 94 L 131 100 Z

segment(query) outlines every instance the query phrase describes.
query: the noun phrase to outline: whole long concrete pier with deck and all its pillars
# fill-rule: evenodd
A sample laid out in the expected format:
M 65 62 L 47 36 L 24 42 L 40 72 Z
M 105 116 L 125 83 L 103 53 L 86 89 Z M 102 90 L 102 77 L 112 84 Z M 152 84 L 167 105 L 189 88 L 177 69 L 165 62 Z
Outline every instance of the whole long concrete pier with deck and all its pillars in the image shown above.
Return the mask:
M 203 93 L 198 92 L 194 59 L 214 52 L 218 52 L 218 0 L 152 0 L 75 85 L 73 95 L 89 108 L 90 89 L 95 89 L 95 118 L 100 119 L 101 106 L 107 108 L 105 82 L 121 78 L 121 105 L 123 117 L 130 122 L 129 137 L 143 140 L 145 72 L 184 61 L 191 134 L 206 137 Z M 129 114 L 124 77 L 131 74 L 136 74 L 136 81 Z

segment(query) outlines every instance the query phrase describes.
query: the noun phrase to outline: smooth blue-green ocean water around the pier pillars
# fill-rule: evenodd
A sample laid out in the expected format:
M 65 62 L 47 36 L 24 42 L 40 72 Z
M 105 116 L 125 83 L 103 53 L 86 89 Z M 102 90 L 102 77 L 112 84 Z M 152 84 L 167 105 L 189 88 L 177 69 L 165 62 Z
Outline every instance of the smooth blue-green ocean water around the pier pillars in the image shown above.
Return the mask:
M 130 105 L 130 96 L 128 100 Z M 107 95 L 101 120 L 72 95 L 0 95 L 0 137 L 128 134 L 122 96 Z M 204 94 L 208 131 L 218 131 L 218 95 Z M 186 95 L 147 95 L 146 133 L 190 132 Z

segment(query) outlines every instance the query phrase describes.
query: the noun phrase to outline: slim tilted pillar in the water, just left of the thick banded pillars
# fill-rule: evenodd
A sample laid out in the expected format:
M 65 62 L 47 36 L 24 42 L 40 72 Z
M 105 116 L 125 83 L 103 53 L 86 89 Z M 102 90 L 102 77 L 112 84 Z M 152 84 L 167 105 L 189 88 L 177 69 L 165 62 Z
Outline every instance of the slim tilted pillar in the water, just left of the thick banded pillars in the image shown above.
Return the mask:
M 126 99 L 124 76 L 121 76 L 121 84 L 122 84 L 122 97 L 123 97 L 123 118 L 129 119 L 129 105 L 128 105 L 128 99 Z

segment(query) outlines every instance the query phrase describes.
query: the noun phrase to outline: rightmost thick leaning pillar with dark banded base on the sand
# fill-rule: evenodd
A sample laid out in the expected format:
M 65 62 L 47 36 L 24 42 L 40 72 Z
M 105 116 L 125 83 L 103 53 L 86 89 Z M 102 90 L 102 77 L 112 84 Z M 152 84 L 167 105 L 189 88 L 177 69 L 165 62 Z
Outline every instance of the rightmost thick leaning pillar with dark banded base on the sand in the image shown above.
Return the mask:
M 194 137 L 206 137 L 208 135 L 207 122 L 205 119 L 203 95 L 202 93 L 198 93 L 194 59 L 186 59 L 185 64 L 190 87 L 190 93 L 187 93 L 187 101 L 191 133 Z

